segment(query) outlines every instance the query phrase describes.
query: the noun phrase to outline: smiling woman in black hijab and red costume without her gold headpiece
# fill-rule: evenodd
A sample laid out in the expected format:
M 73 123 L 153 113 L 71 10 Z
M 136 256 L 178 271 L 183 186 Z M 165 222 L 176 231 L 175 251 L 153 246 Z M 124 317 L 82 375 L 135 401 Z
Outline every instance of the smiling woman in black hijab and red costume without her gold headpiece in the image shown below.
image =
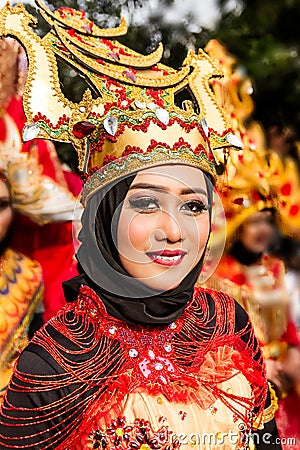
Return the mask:
M 211 204 L 209 177 L 188 165 L 176 176 L 173 164 L 141 170 L 91 196 L 82 274 L 19 359 L 2 448 L 246 448 L 264 370 L 242 308 L 194 288 Z

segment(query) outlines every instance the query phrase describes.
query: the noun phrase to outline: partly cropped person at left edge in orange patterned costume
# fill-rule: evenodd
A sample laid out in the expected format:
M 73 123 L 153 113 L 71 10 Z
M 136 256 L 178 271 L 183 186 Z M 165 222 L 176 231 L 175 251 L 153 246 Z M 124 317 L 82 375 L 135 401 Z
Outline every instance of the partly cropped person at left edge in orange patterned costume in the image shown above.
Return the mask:
M 12 375 L 16 358 L 28 343 L 29 326 L 34 313 L 41 307 L 43 296 L 40 265 L 10 248 L 12 221 L 13 210 L 8 181 L 0 173 L 1 398 Z

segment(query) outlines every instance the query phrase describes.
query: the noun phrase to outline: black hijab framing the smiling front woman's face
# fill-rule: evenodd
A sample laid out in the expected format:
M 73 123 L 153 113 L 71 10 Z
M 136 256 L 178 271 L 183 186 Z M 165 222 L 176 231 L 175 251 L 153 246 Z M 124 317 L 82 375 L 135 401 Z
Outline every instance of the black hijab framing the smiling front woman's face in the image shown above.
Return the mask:
M 81 275 L 64 283 L 67 300 L 74 300 L 80 285 L 90 286 L 108 314 L 129 323 L 166 325 L 181 316 L 193 296 L 203 264 L 198 264 L 174 289 L 156 291 L 131 277 L 122 267 L 114 244 L 121 206 L 135 175 L 123 178 L 95 193 L 82 216 L 77 253 Z M 212 184 L 205 176 L 211 216 Z

